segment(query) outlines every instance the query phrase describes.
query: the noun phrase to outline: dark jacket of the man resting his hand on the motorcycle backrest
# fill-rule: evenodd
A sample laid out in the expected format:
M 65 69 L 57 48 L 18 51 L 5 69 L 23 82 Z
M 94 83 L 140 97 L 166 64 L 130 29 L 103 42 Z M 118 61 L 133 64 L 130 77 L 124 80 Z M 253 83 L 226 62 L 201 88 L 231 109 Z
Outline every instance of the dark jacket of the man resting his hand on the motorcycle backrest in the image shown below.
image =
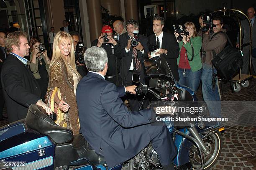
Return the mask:
M 9 54 L 3 63 L 1 83 L 9 123 L 24 119 L 28 107 L 41 98 L 40 87 L 27 66 Z

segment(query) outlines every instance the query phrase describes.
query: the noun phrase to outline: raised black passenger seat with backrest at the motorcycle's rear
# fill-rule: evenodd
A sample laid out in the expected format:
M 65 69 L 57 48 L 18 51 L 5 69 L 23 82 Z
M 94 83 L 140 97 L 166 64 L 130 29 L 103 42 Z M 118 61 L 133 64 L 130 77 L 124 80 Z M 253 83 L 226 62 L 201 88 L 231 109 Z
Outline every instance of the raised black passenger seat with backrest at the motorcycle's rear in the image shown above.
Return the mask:
M 66 127 L 58 126 L 41 107 L 32 104 L 28 108 L 28 114 L 25 118 L 27 126 L 41 134 L 49 136 L 57 144 L 63 144 L 72 141 L 73 132 Z

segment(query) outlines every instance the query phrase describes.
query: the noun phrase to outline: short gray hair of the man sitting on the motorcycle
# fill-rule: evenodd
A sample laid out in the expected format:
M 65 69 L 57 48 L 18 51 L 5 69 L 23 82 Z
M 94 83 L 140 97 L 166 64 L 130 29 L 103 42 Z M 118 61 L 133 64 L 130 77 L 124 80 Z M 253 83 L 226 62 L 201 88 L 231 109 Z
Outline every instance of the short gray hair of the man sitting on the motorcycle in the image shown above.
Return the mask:
M 84 63 L 89 71 L 101 72 L 108 63 L 107 52 L 104 48 L 92 46 L 84 53 Z

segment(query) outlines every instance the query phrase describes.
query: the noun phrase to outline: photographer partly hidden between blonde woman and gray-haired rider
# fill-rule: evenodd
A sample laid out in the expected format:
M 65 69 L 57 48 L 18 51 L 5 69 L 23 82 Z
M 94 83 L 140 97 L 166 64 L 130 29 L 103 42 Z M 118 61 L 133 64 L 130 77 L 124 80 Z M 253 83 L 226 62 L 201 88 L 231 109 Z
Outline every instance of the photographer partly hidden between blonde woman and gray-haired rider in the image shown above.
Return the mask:
M 76 31 L 71 31 L 70 36 L 73 39 L 74 51 L 75 51 L 75 60 L 78 73 L 84 77 L 87 75 L 88 70 L 84 64 L 84 52 L 87 49 L 84 47 L 84 44 L 81 42 L 81 36 Z

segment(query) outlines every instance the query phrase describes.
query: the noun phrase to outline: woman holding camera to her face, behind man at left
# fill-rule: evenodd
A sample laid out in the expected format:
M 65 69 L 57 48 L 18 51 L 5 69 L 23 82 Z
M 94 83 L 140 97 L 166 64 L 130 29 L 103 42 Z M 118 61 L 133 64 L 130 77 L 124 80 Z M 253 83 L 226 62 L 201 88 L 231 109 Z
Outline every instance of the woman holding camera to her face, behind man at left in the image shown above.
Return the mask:
M 49 81 L 48 70 L 51 60 L 47 56 L 47 51 L 38 37 L 32 37 L 29 41 L 29 46 L 31 47 L 31 54 L 30 60 L 28 61 L 28 68 L 40 86 L 41 99 L 44 101 Z

